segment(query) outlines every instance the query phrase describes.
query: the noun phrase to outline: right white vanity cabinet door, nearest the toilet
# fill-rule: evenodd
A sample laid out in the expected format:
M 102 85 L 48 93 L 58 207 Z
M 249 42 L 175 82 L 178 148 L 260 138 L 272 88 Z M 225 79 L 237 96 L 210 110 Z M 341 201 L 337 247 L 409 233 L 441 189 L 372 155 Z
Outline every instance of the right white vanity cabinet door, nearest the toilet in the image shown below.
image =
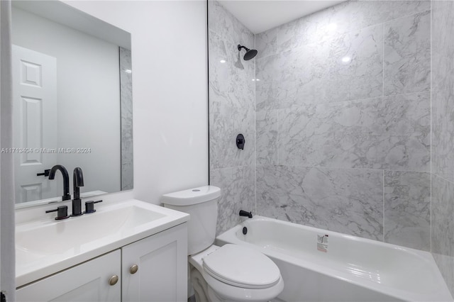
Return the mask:
M 122 250 L 122 301 L 187 301 L 187 224 Z

